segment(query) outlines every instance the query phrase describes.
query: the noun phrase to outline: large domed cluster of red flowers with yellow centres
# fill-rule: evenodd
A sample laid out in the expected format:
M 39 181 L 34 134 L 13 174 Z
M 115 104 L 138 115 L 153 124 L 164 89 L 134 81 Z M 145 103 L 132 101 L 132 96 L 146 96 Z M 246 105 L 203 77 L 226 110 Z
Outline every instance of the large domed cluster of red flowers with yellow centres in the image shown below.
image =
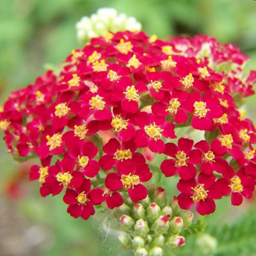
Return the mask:
M 163 42 L 142 32 L 107 33 L 72 51 L 60 75 L 49 71 L 13 92 L 0 129 L 14 157 L 40 157 L 30 179 L 39 179 L 42 196 L 64 188 L 75 218 L 87 220 L 104 201 L 110 209 L 122 205 L 122 191 L 133 202 L 146 198 L 143 182 L 152 172 L 145 149 L 166 177 L 179 173 L 180 207 L 195 203 L 210 214 L 215 199 L 231 195 L 239 205 L 255 186 L 255 127 L 234 100 L 254 93 L 256 72 L 239 78 L 247 60 L 208 36 Z M 170 142 L 189 126 L 207 139 Z

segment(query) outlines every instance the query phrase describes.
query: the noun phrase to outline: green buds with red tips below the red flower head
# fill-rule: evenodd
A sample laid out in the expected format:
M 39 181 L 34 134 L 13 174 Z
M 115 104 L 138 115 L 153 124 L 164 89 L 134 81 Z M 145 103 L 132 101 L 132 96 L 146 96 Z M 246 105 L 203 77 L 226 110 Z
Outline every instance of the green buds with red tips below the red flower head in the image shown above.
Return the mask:
M 115 209 L 115 217 L 120 221 L 118 240 L 125 250 L 135 256 L 162 256 L 164 247 L 170 250 L 186 244 L 180 236 L 193 222 L 193 213 L 181 211 L 177 198 L 166 204 L 163 188 L 148 187 L 148 196 L 139 204 L 129 198 Z

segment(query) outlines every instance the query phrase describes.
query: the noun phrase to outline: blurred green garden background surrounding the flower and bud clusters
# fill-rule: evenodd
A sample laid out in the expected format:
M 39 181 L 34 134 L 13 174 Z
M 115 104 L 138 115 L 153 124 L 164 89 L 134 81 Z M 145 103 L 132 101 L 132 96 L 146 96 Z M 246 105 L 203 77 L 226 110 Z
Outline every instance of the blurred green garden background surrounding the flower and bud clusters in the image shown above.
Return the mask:
M 202 33 L 216 37 L 221 43 L 236 44 L 252 59 L 247 71 L 256 69 L 256 1 L 253 0 L 0 0 L 0 3 L 1 104 L 12 90 L 33 83 L 45 67 L 57 65 L 72 49 L 81 47 L 75 24 L 101 7 L 113 7 L 118 13 L 136 17 L 144 31 L 161 39 Z M 246 108 L 255 121 L 254 100 L 255 97 L 248 99 Z M 14 163 L 2 142 L 0 150 L 0 256 L 131 255 L 120 252 L 113 237 L 105 239 L 106 234 L 99 228 L 101 220 L 74 220 L 65 213 L 61 196 L 41 198 L 39 184 L 26 181 L 31 163 L 22 166 Z M 17 180 L 22 181 L 17 185 Z M 165 180 L 165 183 L 173 195 L 175 181 L 170 184 L 170 180 Z M 206 232 L 219 237 L 214 252 L 205 251 L 206 245 L 200 249 L 192 236 L 184 248 L 168 255 L 256 255 L 255 205 L 245 202 L 235 208 L 227 206 L 228 200 L 218 204 L 216 214 L 202 218 L 209 219 Z M 223 232 L 214 228 L 223 223 L 230 225 L 226 231 L 235 228 L 241 236 L 232 238 L 234 231 L 230 231 L 229 238 L 221 237 Z M 228 246 L 232 249 L 227 249 Z

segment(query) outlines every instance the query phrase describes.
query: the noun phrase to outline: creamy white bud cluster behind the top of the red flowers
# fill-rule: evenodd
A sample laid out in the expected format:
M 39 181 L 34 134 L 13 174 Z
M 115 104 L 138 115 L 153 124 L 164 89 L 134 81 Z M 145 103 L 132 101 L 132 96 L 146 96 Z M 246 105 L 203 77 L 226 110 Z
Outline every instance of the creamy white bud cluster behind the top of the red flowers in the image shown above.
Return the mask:
M 141 24 L 134 17 L 127 17 L 124 13 L 118 13 L 114 8 L 100 8 L 91 17 L 82 17 L 76 24 L 77 38 L 81 44 L 85 44 L 91 38 L 103 36 L 108 31 L 140 31 Z

